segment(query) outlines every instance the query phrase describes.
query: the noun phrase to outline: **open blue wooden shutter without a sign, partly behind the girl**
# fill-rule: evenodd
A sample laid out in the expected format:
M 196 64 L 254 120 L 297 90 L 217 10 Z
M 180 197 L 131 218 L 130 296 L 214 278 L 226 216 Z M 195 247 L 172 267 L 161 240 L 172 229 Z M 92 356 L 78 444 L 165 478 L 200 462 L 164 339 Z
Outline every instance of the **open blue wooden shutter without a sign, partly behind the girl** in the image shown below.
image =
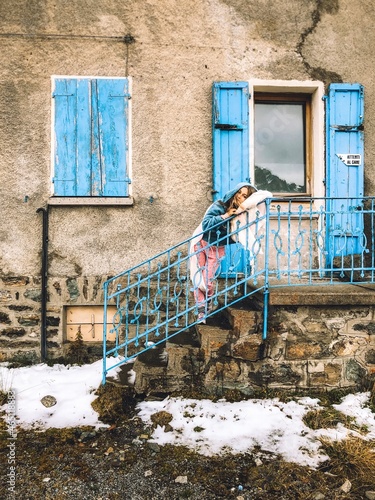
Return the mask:
M 221 198 L 239 182 L 249 182 L 249 87 L 247 82 L 213 85 L 213 193 Z M 247 253 L 228 245 L 221 275 L 245 272 Z

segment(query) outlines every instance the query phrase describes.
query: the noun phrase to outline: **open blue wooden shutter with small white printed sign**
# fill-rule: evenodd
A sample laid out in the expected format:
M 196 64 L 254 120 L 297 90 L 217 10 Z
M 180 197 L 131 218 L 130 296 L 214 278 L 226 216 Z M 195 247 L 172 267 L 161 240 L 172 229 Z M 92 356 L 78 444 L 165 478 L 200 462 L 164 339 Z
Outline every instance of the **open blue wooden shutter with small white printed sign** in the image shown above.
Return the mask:
M 326 108 L 328 262 L 361 253 L 364 195 L 364 91 L 360 84 L 331 84 Z

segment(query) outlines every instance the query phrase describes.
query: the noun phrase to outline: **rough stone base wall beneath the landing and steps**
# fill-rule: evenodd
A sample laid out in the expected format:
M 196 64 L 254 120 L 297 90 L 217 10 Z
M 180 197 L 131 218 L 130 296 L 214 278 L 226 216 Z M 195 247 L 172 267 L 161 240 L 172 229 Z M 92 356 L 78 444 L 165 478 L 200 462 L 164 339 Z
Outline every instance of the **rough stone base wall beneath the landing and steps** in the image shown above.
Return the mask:
M 210 394 L 259 388 L 366 388 L 375 378 L 374 306 L 274 307 L 262 339 L 262 315 L 229 308 L 230 328 L 199 325 L 199 347 L 165 346 L 168 362 L 136 361 L 137 392 L 196 389 Z

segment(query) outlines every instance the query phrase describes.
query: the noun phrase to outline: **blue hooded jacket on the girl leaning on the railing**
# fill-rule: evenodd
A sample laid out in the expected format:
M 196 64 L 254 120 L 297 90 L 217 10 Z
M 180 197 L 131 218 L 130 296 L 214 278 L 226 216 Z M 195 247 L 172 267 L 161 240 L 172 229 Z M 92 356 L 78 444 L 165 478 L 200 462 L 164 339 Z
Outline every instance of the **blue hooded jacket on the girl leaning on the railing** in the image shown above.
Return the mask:
M 208 207 L 202 220 L 204 241 L 207 241 L 208 243 L 215 243 L 215 241 L 217 241 L 220 246 L 235 243 L 232 238 L 225 238 L 228 234 L 230 219 L 223 219 L 221 216 L 227 211 L 225 204 L 237 193 L 237 191 L 245 186 L 254 187 L 249 182 L 240 182 L 233 189 L 225 193 L 221 200 L 215 201 Z M 215 225 L 217 226 L 213 228 Z

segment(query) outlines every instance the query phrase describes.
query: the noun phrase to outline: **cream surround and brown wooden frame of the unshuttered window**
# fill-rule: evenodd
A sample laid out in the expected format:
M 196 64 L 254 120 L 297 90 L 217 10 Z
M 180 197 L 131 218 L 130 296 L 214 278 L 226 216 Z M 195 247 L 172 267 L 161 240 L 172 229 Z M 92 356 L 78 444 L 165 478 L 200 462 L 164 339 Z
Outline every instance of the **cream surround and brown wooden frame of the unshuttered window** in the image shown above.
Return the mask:
M 258 96 L 269 99 L 304 98 L 306 106 L 306 193 L 273 193 L 293 197 L 323 197 L 325 194 L 324 168 L 324 84 L 318 81 L 297 82 L 285 80 L 252 80 L 249 81 L 249 142 L 250 142 L 250 178 L 255 179 L 255 112 L 254 106 Z

